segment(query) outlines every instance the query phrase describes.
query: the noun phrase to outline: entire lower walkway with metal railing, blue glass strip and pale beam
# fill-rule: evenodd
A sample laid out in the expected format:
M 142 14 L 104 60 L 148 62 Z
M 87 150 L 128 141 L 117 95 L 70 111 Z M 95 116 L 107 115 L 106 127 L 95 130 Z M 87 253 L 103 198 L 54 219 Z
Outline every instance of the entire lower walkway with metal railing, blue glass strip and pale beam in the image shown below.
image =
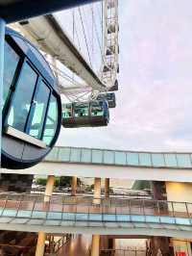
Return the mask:
M 1 229 L 191 238 L 191 203 L 114 197 L 94 200 L 1 193 Z

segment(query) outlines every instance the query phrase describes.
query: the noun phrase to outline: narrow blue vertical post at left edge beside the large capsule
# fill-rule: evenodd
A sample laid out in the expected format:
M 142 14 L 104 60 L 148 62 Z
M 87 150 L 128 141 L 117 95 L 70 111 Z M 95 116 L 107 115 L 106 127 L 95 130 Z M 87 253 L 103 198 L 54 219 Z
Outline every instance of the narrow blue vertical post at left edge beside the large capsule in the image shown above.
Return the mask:
M 0 18 L 0 150 L 1 150 L 1 140 L 2 140 L 5 29 L 6 29 L 6 23 L 2 18 Z M 0 163 L 1 163 L 1 154 L 0 154 Z

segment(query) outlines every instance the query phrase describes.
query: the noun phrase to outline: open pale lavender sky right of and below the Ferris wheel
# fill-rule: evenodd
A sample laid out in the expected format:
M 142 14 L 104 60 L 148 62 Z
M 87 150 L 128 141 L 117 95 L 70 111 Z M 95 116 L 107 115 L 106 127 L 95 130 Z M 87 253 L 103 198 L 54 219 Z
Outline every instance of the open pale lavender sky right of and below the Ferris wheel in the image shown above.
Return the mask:
M 108 127 L 61 128 L 58 145 L 192 151 L 191 9 L 190 0 L 119 0 L 117 107 Z

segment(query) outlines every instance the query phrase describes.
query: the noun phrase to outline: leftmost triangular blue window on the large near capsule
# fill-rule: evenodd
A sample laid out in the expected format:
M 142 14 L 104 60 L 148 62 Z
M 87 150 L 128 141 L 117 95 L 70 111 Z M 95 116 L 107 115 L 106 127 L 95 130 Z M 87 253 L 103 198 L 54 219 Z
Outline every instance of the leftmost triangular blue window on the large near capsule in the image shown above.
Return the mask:
M 10 87 L 12 86 L 12 80 L 13 80 L 18 62 L 19 62 L 19 56 L 14 52 L 11 45 L 5 42 L 3 106 L 8 97 Z

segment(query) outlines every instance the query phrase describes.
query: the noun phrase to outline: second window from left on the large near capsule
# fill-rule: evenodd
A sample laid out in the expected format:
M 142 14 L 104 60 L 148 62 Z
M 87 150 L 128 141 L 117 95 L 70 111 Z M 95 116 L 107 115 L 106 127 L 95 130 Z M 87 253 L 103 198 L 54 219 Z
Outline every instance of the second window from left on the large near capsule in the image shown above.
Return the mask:
M 12 100 L 12 111 L 8 117 L 8 124 L 22 132 L 25 131 L 36 79 L 37 75 L 34 69 L 29 64 L 24 64 Z

